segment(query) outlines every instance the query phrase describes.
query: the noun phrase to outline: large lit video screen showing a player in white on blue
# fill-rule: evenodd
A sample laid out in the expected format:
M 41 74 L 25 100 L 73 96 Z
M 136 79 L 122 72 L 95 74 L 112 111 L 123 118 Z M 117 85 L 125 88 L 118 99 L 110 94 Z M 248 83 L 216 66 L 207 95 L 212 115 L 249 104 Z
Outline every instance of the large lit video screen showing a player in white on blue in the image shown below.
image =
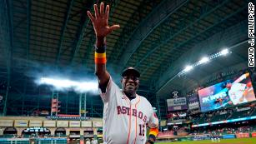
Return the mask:
M 248 73 L 234 80 L 219 82 L 211 87 L 203 88 L 198 91 L 198 96 L 201 112 L 256 100 Z

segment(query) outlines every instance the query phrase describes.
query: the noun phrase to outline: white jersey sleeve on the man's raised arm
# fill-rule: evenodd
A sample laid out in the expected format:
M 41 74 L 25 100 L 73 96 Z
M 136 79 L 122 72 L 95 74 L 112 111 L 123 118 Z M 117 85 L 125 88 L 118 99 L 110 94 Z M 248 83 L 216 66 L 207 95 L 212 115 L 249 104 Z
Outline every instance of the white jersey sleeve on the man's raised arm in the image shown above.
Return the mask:
M 102 92 L 101 88 L 98 88 L 100 97 L 104 103 L 109 101 L 111 95 L 114 95 L 115 91 L 117 91 L 119 87 L 113 82 L 112 77 L 109 77 L 108 86 L 106 87 L 106 91 Z

